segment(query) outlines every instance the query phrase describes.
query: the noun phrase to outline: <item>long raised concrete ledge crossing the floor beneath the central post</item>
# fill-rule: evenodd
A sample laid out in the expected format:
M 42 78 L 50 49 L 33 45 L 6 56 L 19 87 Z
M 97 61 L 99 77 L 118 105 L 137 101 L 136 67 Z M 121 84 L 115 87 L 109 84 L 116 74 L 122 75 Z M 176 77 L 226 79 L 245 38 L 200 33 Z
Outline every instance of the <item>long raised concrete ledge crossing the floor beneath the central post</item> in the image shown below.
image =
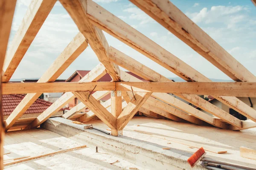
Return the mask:
M 98 146 L 107 153 L 114 154 L 138 166 L 149 169 L 180 170 L 191 169 L 186 160 L 191 153 L 171 148 L 163 150 L 163 145 L 146 142 L 128 136 L 115 137 L 96 130 L 84 130 L 83 125 L 77 125 L 63 118 L 48 119 L 41 127 L 58 133 L 76 142 L 89 146 Z M 204 167 L 197 165 L 198 170 Z

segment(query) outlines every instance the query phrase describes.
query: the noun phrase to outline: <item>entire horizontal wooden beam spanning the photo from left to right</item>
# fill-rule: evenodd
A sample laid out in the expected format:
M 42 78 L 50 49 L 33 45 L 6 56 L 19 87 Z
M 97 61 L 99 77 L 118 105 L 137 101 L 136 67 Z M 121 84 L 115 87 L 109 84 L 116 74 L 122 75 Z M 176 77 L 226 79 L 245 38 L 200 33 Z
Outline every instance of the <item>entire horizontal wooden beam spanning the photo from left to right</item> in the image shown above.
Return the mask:
M 3 83 L 3 94 L 136 91 L 256 97 L 256 82 L 32 82 Z

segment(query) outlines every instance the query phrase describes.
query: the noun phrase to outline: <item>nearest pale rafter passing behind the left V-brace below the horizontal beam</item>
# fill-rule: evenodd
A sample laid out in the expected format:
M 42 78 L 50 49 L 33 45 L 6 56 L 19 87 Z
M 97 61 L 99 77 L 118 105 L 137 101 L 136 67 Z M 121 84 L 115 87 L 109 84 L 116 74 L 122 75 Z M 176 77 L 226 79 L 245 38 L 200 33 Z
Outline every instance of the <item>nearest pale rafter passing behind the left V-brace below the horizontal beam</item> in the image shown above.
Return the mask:
M 102 99 L 102 97 L 108 95 L 109 93 L 110 93 L 110 91 L 97 91 L 94 94 L 92 94 L 92 96 L 95 99 L 100 100 L 100 99 Z M 67 113 L 65 113 L 61 117 L 65 118 L 65 119 L 71 119 L 73 116 L 76 115 L 77 112 L 81 111 L 82 109 L 84 109 L 86 107 L 87 106 L 84 105 L 83 102 L 81 102 L 78 105 L 76 105 L 75 107 L 71 108 L 69 111 L 67 111 Z

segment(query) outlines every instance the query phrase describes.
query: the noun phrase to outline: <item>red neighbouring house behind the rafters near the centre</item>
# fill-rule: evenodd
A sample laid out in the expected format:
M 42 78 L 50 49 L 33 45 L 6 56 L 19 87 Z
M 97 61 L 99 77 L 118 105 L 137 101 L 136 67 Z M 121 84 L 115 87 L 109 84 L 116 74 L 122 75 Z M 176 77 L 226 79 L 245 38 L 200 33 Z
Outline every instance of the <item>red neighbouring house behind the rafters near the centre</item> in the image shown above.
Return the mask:
M 66 82 L 78 82 L 79 80 L 81 80 L 81 78 L 83 78 L 86 74 L 88 74 L 90 71 L 89 70 L 77 70 L 75 71 L 75 73 L 73 73 L 67 80 Z M 137 76 L 136 74 L 133 74 L 129 71 L 126 71 L 128 74 L 131 74 L 134 77 L 137 77 L 140 80 L 143 80 L 144 82 L 146 82 L 147 80 Z M 105 74 L 102 78 L 100 78 L 97 82 L 110 82 L 112 81 L 112 78 L 110 77 L 109 74 Z M 93 92 L 94 93 L 94 92 Z M 92 93 L 92 94 L 93 94 Z M 100 99 L 101 102 L 105 102 L 106 100 L 110 99 L 110 94 L 108 94 L 107 96 L 103 97 L 102 99 Z M 79 104 L 81 101 L 77 98 L 73 99 L 72 101 L 70 101 L 68 103 L 68 108 L 71 109 L 73 107 L 75 107 L 77 104 Z

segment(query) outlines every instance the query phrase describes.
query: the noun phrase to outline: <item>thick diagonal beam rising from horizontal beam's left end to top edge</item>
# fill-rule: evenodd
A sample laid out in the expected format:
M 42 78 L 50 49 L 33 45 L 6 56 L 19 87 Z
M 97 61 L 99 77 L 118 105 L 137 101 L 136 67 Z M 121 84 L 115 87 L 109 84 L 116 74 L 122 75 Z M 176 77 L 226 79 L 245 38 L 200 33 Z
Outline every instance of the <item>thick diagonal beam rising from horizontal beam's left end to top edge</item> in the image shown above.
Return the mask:
M 13 1 L 12 1 L 13 2 Z M 56 0 L 32 0 L 7 51 L 2 82 L 9 82 Z M 2 16 L 2 15 L 1 15 Z M 5 23 L 6 24 L 6 23 Z

